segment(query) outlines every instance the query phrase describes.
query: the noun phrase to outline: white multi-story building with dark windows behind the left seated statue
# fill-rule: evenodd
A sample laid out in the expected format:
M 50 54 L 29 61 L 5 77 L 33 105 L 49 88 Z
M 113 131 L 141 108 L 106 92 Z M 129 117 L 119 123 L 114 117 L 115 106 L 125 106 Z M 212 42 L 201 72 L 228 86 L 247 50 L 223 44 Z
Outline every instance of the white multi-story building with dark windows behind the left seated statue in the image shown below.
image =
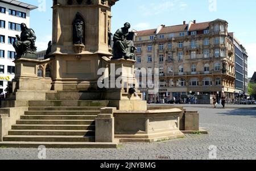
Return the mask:
M 0 93 L 15 74 L 15 35 L 20 35 L 20 24 L 30 27 L 30 11 L 37 8 L 27 3 L 0 0 Z

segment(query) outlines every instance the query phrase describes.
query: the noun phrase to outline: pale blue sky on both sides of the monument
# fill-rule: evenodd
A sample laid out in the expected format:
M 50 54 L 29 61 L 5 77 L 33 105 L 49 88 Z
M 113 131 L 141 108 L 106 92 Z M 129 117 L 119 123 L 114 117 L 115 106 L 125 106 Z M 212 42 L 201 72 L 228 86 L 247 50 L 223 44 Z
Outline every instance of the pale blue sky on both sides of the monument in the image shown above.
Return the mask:
M 52 0 L 19 0 L 38 6 L 31 11 L 31 28 L 36 32 L 38 50 L 45 50 L 52 34 Z M 125 22 L 137 31 L 161 24 L 177 25 L 224 19 L 249 54 L 248 77 L 256 71 L 255 0 L 119 0 L 112 7 L 112 32 Z

